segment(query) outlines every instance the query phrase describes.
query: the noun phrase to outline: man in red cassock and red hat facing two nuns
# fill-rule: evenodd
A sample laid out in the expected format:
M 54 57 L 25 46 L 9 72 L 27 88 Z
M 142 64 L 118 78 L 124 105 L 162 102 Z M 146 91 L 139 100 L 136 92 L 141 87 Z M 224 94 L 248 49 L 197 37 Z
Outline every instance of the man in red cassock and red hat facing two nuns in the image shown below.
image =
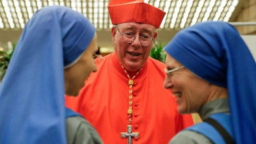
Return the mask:
M 111 0 L 108 9 L 115 52 L 97 63 L 78 97 L 66 97 L 66 106 L 91 122 L 106 144 L 168 143 L 193 119 L 177 112 L 163 88 L 164 63 L 148 57 L 165 13 L 134 0 Z

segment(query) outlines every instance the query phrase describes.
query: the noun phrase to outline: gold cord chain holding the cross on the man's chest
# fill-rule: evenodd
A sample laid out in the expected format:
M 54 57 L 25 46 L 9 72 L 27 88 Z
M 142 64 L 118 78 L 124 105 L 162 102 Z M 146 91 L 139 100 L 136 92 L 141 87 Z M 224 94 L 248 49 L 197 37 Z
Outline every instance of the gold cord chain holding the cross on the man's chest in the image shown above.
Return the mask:
M 121 64 L 121 63 L 120 63 Z M 127 111 L 127 114 L 128 114 L 128 118 L 129 118 L 129 124 L 131 124 L 132 120 L 131 120 L 131 116 L 132 116 L 132 85 L 134 84 L 133 83 L 133 80 L 134 78 L 140 73 L 142 67 L 140 68 L 140 70 L 132 77 L 129 76 L 129 74 L 127 73 L 127 71 L 125 70 L 125 68 L 122 66 L 121 64 L 121 67 L 124 69 L 124 72 L 125 74 L 127 75 L 127 77 L 129 78 L 129 108 L 128 108 L 128 111 Z

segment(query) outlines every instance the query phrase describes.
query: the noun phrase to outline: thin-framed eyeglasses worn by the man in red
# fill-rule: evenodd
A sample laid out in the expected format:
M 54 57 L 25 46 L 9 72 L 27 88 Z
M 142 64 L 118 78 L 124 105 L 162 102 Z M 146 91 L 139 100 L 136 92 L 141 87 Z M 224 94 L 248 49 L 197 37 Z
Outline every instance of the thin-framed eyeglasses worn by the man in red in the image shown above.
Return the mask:
M 118 30 L 120 35 L 122 35 L 122 38 L 123 38 L 124 42 L 127 43 L 127 44 L 131 44 L 135 40 L 136 37 L 139 38 L 140 44 L 143 45 L 143 46 L 149 45 L 150 42 L 152 40 L 154 40 L 154 37 L 152 38 L 152 36 L 147 36 L 147 35 L 135 36 L 132 33 L 121 33 L 119 31 L 119 29 L 117 28 L 117 26 L 114 26 L 114 28 L 116 28 Z

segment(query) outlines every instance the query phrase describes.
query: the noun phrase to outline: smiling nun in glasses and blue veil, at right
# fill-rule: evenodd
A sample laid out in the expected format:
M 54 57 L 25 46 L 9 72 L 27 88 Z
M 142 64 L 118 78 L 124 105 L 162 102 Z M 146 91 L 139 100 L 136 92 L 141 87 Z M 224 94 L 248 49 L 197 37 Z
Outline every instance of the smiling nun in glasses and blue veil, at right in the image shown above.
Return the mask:
M 175 143 L 256 143 L 256 64 L 237 30 L 207 21 L 182 29 L 166 45 L 164 87 L 179 113 L 203 122 L 180 131 Z

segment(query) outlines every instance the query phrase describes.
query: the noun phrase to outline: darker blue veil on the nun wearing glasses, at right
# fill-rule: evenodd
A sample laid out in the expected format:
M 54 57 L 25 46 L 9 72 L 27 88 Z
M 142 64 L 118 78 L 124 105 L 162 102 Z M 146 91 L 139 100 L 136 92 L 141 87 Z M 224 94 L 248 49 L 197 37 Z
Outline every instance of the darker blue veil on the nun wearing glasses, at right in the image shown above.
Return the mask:
M 164 49 L 197 76 L 228 89 L 236 143 L 256 142 L 256 64 L 237 30 L 221 21 L 183 29 Z

